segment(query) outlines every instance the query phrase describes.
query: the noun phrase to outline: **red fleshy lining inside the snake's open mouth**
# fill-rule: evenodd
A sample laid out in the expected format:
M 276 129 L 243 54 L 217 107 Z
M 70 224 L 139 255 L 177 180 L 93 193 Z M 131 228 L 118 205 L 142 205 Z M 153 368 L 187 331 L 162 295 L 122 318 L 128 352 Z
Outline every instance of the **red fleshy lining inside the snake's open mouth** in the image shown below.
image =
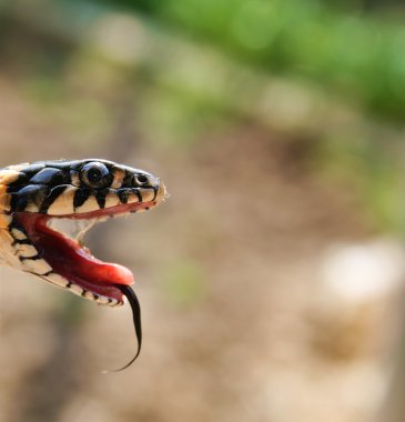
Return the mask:
M 123 204 L 83 214 L 58 215 L 58 218 L 102 218 L 134 212 L 153 205 L 154 202 Z M 114 284 L 133 284 L 133 274 L 128 268 L 102 262 L 77 241 L 52 230 L 47 223 L 55 217 L 19 212 L 14 214 L 14 218 L 24 228 L 41 258 L 52 267 L 55 273 L 94 294 L 123 302 L 123 294 Z

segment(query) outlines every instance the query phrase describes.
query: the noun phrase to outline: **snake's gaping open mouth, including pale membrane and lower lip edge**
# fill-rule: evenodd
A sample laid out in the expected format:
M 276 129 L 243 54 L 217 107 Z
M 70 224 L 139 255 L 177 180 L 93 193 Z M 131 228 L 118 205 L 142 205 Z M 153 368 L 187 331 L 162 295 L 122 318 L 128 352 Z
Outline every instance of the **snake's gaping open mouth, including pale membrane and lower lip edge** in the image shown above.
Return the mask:
M 14 221 L 20 224 L 38 259 L 44 260 L 52 269 L 41 277 L 59 287 L 70 289 L 85 299 L 101 304 L 123 303 L 123 285 L 133 284 L 132 272 L 115 263 L 100 261 L 82 244 L 87 230 L 109 217 L 148 210 L 156 202 L 120 204 L 85 213 L 49 215 L 32 212 L 16 212 Z M 71 221 L 71 233 L 63 231 L 63 221 Z M 37 257 L 29 257 L 36 263 Z

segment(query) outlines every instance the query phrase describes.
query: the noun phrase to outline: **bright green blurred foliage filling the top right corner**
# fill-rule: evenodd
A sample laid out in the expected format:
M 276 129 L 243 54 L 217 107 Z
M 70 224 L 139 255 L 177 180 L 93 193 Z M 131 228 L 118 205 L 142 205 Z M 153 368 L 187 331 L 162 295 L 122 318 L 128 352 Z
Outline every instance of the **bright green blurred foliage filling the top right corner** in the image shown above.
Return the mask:
M 402 22 L 365 16 L 361 9 L 343 13 L 316 0 L 117 3 L 209 41 L 252 66 L 314 79 L 378 114 L 403 117 L 405 62 L 398 53 L 405 47 Z

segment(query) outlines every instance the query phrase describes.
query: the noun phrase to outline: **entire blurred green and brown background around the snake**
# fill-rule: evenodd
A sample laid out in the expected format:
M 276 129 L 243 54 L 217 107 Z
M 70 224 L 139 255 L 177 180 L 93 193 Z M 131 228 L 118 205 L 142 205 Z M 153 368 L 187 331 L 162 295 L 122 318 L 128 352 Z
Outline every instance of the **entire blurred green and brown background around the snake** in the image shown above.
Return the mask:
M 0 2 L 0 165 L 105 158 L 171 198 L 87 243 L 105 309 L 0 270 L 2 422 L 405 420 L 402 1 Z

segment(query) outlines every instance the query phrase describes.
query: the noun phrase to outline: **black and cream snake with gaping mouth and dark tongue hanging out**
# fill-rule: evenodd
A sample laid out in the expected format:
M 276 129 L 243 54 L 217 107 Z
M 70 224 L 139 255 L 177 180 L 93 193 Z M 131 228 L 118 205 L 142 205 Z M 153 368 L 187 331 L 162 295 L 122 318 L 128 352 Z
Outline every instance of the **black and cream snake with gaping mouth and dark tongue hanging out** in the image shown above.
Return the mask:
M 103 262 L 83 243 L 94 224 L 155 208 L 164 183 L 102 159 L 38 161 L 0 169 L 0 264 L 105 307 L 131 305 L 139 355 L 141 311 L 128 268 Z

